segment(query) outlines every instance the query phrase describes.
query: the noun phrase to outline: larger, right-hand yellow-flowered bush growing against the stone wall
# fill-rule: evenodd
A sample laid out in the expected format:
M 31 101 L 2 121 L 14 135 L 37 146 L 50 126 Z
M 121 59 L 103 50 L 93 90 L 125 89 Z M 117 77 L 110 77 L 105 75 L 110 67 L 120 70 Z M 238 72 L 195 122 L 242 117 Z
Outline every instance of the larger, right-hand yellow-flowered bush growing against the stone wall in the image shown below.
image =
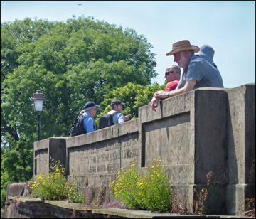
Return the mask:
M 117 179 L 110 183 L 114 197 L 134 210 L 151 210 L 159 213 L 171 210 L 171 188 L 160 159 L 140 174 L 134 163 L 127 171 L 122 167 Z

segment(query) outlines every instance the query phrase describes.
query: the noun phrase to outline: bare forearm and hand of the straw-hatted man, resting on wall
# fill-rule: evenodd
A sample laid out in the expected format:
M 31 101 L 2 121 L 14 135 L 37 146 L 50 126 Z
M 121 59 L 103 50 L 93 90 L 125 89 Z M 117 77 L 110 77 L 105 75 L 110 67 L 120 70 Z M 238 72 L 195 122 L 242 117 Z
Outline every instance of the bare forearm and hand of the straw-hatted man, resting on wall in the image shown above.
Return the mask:
M 153 97 L 156 97 L 159 99 L 165 99 L 167 97 L 174 97 L 176 95 L 182 94 L 183 92 L 188 92 L 188 91 L 193 90 L 193 87 L 195 85 L 196 85 L 196 80 L 188 80 L 184 87 L 170 91 L 168 96 L 166 96 L 166 92 L 164 90 L 160 90 L 160 91 L 155 92 Z

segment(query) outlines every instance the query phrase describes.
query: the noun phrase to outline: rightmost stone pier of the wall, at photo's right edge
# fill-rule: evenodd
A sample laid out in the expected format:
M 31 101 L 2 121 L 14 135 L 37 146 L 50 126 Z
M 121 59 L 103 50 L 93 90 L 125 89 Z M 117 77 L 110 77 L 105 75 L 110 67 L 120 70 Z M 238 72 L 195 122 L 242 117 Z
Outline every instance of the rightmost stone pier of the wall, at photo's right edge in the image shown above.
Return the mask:
M 245 198 L 255 198 L 255 84 L 228 93 L 227 212 L 244 208 Z

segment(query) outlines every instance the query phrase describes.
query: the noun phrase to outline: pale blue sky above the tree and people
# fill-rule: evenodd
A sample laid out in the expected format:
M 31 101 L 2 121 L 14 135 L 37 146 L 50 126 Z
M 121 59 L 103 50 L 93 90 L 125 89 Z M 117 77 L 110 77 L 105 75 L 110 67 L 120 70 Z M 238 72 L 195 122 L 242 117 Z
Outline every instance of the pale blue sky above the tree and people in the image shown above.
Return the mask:
M 255 1 L 1 1 L 1 23 L 82 14 L 144 35 L 154 46 L 159 75 L 153 82 L 159 85 L 166 67 L 176 64 L 165 54 L 185 39 L 214 48 L 224 87 L 255 82 Z

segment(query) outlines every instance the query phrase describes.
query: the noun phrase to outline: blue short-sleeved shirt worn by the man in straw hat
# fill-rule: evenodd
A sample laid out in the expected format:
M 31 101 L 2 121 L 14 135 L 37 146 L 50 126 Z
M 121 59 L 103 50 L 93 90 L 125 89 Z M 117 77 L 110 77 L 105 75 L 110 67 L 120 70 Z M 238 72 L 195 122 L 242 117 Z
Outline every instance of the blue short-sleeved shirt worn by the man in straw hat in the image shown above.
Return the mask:
M 218 68 L 210 64 L 206 59 L 193 55 L 183 69 L 178 89 L 184 87 L 188 80 L 196 80 L 193 89 L 199 87 L 223 87 Z

